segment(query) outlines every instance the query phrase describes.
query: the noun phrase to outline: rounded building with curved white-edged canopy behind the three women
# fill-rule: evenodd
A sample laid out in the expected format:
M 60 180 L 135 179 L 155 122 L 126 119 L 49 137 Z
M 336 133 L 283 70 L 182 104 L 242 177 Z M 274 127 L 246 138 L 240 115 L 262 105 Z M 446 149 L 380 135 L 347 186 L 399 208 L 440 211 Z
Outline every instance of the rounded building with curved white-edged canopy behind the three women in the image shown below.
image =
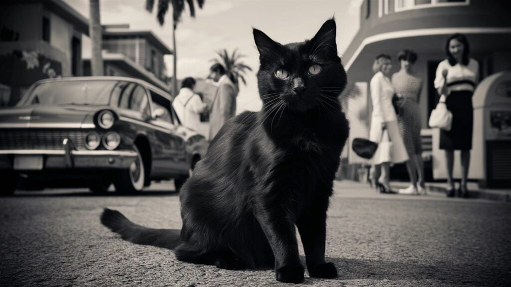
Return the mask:
M 360 29 L 342 55 L 351 84 L 350 97 L 346 100 L 354 131 L 346 153 L 349 162 L 364 162 L 349 151 L 354 137 L 368 135 L 373 61 L 379 54 L 391 55 L 394 73 L 399 70 L 398 52 L 411 49 L 419 55 L 414 68 L 424 77 L 419 116 L 426 138 L 425 150 L 428 156 L 437 157 L 431 163 L 433 169 L 445 166 L 445 159 L 440 157 L 433 143 L 436 131 L 428 129 L 427 123 L 438 101 L 433 80 L 438 63 L 446 58 L 446 39 L 454 33 L 467 36 L 470 56 L 480 64 L 482 81 L 489 75 L 511 69 L 509 15 L 511 2 L 500 0 L 364 0 L 360 8 Z M 459 173 L 459 168 L 455 173 Z M 436 178 L 443 178 L 441 174 Z

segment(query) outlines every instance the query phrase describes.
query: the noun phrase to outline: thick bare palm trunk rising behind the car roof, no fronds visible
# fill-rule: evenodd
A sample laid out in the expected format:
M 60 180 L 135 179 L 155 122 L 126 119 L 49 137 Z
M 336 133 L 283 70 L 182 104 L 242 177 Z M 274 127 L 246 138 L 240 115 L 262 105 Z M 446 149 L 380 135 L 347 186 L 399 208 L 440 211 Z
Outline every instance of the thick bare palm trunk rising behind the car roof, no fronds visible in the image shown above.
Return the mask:
M 90 59 L 91 76 L 103 76 L 103 58 L 101 56 L 102 27 L 99 18 L 99 0 L 90 1 L 89 35 L 92 41 L 92 58 Z

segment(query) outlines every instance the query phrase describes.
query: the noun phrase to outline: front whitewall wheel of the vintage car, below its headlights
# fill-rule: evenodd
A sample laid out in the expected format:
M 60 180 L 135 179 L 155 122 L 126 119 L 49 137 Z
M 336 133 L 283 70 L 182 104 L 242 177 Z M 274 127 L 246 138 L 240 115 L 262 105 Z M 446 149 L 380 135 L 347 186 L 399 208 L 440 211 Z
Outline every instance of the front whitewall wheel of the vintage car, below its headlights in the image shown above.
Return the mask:
M 120 171 L 113 178 L 115 191 L 122 194 L 140 193 L 144 188 L 145 165 L 142 155 L 136 146 L 133 146 L 136 152 L 136 160 L 131 163 L 129 169 Z

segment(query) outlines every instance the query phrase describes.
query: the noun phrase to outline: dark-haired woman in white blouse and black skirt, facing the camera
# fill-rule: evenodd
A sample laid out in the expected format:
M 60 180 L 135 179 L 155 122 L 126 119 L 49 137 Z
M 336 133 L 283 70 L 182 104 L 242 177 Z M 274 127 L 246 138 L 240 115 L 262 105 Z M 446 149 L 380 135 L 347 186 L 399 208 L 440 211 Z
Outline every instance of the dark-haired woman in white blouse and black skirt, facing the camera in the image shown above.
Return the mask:
M 473 112 L 472 94 L 479 81 L 479 63 L 471 59 L 470 47 L 463 34 L 453 34 L 446 42 L 447 59 L 436 68 L 435 88 L 440 101 L 451 111 L 450 131 L 440 130 L 440 149 L 445 150 L 447 163 L 448 197 L 455 196 L 453 182 L 454 150 L 461 150 L 461 184 L 459 195 L 468 197 L 467 176 L 472 149 Z

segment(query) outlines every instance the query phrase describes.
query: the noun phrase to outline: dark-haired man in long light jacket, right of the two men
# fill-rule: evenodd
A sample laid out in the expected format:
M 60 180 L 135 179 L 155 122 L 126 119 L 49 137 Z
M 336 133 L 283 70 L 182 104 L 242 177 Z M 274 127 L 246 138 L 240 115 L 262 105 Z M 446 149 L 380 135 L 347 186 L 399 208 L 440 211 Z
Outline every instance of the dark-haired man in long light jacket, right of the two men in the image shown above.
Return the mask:
M 225 74 L 225 68 L 221 64 L 216 63 L 211 66 L 210 72 L 208 78 L 213 79 L 218 85 L 210 114 L 210 140 L 212 140 L 223 124 L 236 115 L 238 89 Z

